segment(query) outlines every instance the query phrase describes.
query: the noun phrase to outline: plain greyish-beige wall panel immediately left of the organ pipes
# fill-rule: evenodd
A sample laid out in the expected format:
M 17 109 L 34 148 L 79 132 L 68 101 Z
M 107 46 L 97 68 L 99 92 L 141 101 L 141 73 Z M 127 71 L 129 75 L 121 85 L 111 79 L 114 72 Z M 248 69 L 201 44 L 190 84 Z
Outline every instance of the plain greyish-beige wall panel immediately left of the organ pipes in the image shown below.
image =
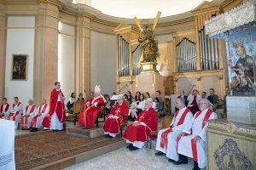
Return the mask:
M 116 91 L 115 36 L 90 31 L 90 88 L 102 86 L 102 94 Z

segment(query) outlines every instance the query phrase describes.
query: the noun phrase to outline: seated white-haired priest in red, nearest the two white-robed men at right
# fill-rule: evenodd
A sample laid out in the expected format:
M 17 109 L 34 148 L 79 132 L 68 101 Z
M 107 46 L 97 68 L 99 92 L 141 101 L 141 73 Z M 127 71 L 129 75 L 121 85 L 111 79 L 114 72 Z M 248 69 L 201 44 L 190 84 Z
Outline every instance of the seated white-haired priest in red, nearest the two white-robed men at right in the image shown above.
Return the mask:
M 129 150 L 137 150 L 143 148 L 151 131 L 157 130 L 157 114 L 152 108 L 153 101 L 151 98 L 145 102 L 145 110 L 136 118 L 133 124 L 129 125 L 124 134 L 124 139 L 129 145 Z

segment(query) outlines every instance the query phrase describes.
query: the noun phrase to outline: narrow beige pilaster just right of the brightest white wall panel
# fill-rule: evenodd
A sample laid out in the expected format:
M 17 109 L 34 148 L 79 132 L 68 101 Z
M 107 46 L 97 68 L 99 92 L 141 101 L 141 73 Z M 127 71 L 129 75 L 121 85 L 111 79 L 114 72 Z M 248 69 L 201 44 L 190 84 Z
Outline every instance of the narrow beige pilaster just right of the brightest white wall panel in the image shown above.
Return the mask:
M 90 90 L 90 19 L 82 14 L 77 16 L 75 75 L 76 94 Z

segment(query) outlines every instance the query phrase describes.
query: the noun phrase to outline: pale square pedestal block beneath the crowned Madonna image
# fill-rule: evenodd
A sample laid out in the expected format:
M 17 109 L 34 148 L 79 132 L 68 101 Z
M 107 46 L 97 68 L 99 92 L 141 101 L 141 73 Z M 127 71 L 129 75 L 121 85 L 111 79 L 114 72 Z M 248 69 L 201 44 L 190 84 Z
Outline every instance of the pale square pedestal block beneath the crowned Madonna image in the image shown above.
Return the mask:
M 227 118 L 229 122 L 256 124 L 256 97 L 227 97 Z

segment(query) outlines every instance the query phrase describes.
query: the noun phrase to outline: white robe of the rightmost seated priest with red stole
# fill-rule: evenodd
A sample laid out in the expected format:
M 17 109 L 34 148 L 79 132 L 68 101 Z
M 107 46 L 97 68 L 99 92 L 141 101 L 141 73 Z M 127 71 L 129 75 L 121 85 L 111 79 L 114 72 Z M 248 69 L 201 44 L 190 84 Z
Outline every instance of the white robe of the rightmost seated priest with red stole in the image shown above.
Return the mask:
M 207 140 L 207 126 L 208 122 L 205 122 L 205 127 L 202 128 L 202 122 L 207 114 L 207 110 L 201 111 L 201 115 L 195 119 L 195 116 L 190 120 L 190 122 L 184 127 L 183 133 L 191 134 L 189 136 L 183 136 L 178 142 L 177 153 L 183 156 L 188 156 L 193 158 L 191 140 L 195 136 L 200 136 L 201 139 L 196 143 L 197 157 L 198 157 L 198 167 L 204 168 L 207 166 L 207 150 L 206 150 L 206 140 Z M 212 112 L 208 120 L 217 119 L 217 114 Z

